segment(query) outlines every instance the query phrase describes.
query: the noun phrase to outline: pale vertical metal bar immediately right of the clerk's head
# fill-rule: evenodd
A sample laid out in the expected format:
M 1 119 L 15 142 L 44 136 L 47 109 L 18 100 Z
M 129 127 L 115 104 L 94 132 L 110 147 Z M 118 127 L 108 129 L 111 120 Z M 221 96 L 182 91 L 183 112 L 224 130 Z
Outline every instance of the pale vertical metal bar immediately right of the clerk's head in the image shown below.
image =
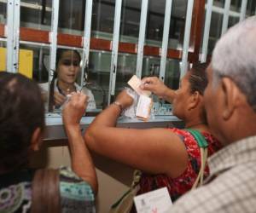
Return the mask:
M 90 26 L 92 15 L 92 0 L 86 0 L 85 16 L 84 16 L 84 37 L 83 37 L 83 56 L 82 56 L 82 72 L 81 72 L 81 87 L 86 83 L 89 68 L 90 55 Z M 85 69 L 85 71 L 84 71 Z

